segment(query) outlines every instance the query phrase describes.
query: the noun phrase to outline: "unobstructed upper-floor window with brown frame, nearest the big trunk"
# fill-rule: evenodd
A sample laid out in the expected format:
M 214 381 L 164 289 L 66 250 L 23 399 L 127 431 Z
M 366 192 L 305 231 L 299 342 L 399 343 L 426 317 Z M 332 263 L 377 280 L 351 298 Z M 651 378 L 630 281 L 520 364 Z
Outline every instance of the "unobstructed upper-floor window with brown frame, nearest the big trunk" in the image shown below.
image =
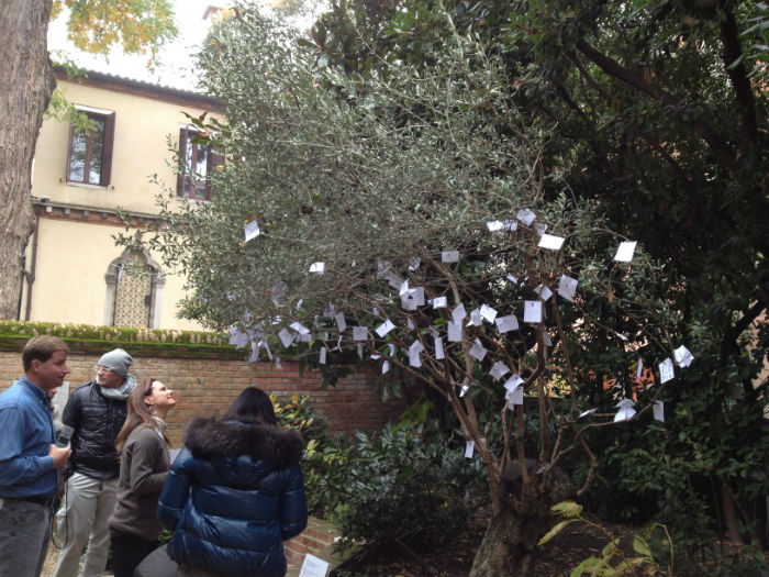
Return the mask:
M 67 182 L 105 187 L 112 173 L 112 141 L 115 114 L 107 110 L 76 107 L 88 116 L 90 130 L 69 126 Z

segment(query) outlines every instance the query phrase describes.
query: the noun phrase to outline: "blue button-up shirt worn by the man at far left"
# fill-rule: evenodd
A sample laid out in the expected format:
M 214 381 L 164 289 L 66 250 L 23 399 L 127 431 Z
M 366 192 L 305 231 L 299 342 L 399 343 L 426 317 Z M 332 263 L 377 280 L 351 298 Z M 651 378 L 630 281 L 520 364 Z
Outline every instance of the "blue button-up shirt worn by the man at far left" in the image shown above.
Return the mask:
M 0 395 L 0 497 L 53 497 L 58 485 L 48 455 L 56 432 L 48 395 L 19 377 Z

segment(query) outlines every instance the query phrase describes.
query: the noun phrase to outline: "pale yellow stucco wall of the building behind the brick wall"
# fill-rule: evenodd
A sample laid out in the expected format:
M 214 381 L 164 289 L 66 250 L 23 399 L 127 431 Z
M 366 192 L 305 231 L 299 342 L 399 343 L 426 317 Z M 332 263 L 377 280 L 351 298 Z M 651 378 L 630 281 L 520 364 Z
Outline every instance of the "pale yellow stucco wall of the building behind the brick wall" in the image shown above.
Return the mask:
M 179 127 L 187 121 L 182 110 L 199 115 L 203 109 L 62 80 L 58 88 L 74 104 L 115 112 L 112 178 L 107 188 L 67 185 L 69 124 L 56 120 L 43 123 L 35 151 L 32 196 L 48 197 L 56 210 L 38 218 L 29 320 L 109 324 L 104 276 L 110 263 L 123 253 L 123 247 L 115 246 L 111 237 L 123 229 L 114 224 L 114 219 L 101 219 L 103 222 L 86 219 L 81 210 L 76 214 L 75 208 L 88 208 L 93 213 L 116 207 L 140 214 L 157 213 L 154 199 L 164 188 L 151 182 L 151 178 L 157 175 L 165 186 L 176 188 L 176 176 L 169 167 L 172 153 L 168 149 L 168 137 L 177 146 Z M 71 214 L 65 218 L 63 207 L 73 207 Z M 33 240 L 26 251 L 27 270 L 31 270 L 32 251 Z M 160 264 L 157 255 L 152 256 Z M 183 278 L 161 268 L 166 280 L 156 304 L 159 322 L 154 328 L 201 330 L 198 323 L 176 318 L 183 296 Z M 26 293 L 25 286 L 21 319 L 25 318 Z

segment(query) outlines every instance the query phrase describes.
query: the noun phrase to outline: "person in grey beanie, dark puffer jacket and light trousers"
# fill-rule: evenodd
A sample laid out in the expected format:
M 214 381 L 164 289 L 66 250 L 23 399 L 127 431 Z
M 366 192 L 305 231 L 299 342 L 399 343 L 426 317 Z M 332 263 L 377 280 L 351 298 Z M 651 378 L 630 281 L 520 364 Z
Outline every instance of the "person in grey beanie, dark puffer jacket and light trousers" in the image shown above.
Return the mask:
M 110 533 L 107 521 L 118 498 L 120 464 L 115 439 L 125 422 L 126 399 L 136 387 L 129 374 L 133 357 L 122 348 L 104 353 L 97 378 L 69 397 L 62 422 L 74 429 L 64 503 L 56 513 L 56 535 L 64 543 L 54 577 L 76 577 L 88 541 L 82 577 L 101 577 Z

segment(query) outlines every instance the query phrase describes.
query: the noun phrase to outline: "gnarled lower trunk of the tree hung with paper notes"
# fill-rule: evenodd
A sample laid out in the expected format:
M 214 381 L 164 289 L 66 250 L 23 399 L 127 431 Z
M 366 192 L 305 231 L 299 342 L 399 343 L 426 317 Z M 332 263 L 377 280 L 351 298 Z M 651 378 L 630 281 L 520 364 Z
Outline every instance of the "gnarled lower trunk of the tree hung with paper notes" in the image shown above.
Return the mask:
M 526 485 L 505 481 L 508 498 L 489 521 L 470 577 L 523 577 L 528 573 L 537 542 L 558 521 L 550 507 L 575 495 L 562 470 L 556 467 L 537 474 L 538 468 L 534 464 Z

